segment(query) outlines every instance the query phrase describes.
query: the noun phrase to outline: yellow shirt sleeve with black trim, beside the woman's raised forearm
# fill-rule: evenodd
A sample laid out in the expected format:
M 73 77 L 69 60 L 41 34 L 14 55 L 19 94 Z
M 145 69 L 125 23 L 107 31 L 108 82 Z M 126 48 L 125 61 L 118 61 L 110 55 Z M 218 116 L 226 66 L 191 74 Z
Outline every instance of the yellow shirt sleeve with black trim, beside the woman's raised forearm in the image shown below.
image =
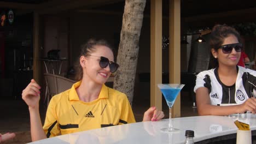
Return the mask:
M 56 104 L 57 102 L 53 97 L 48 105 L 43 126 L 46 137 L 54 137 L 60 135 L 60 126 L 59 122 L 57 121 L 57 115 L 55 110 Z

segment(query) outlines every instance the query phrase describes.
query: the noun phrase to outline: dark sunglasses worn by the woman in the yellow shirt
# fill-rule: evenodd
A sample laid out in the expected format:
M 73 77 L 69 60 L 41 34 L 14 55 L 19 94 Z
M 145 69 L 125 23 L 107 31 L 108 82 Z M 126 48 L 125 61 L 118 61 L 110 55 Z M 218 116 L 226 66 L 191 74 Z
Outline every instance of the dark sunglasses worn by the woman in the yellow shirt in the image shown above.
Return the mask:
M 92 55 L 88 55 L 88 56 L 92 56 Z M 94 56 L 94 57 L 100 57 L 100 56 Z M 106 57 L 100 57 L 100 67 L 101 68 L 106 68 L 109 65 L 109 69 L 111 73 L 115 73 L 115 71 L 117 71 L 119 65 L 115 62 L 109 61 L 108 58 Z

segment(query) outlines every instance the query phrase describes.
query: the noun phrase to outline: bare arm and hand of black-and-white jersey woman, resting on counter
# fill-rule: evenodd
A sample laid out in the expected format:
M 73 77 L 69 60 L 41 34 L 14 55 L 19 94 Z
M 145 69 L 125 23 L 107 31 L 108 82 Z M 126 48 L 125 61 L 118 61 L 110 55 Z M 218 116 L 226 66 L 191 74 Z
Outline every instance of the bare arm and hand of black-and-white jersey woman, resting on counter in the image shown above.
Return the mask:
M 256 112 L 256 99 L 250 98 L 245 103 L 232 106 L 211 105 L 208 89 L 205 87 L 196 90 L 196 105 L 199 115 L 219 115 L 225 116 L 245 111 Z

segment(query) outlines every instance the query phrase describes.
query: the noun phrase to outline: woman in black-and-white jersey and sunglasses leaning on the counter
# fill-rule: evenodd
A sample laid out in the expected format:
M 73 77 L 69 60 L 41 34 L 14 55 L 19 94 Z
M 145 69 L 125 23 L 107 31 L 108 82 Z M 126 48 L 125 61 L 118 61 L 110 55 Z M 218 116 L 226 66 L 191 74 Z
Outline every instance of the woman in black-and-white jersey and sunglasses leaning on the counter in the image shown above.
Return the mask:
M 232 27 L 216 25 L 210 45 L 216 68 L 197 75 L 194 92 L 199 115 L 256 113 L 256 72 L 237 66 L 243 47 L 240 34 Z

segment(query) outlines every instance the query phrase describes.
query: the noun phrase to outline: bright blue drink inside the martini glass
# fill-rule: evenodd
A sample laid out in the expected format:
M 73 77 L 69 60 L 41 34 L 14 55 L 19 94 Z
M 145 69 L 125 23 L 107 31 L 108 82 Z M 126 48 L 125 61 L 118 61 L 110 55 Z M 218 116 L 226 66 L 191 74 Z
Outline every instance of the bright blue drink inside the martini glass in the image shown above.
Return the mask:
M 180 91 L 181 88 L 161 89 L 161 92 L 164 94 L 166 103 L 169 107 L 172 107 Z

